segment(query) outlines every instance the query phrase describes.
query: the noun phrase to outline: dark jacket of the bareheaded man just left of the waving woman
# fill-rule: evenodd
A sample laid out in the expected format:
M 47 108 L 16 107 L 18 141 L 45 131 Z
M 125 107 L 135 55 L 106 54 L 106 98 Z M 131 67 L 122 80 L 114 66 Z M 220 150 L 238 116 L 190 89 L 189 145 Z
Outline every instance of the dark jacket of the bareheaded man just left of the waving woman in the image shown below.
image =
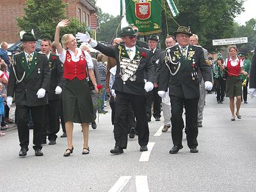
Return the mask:
M 49 68 L 51 69 L 51 81 L 50 89 L 48 92 L 48 99 L 58 100 L 61 99 L 61 94 L 56 95 L 55 89 L 56 86 L 60 86 L 61 88 L 63 88 L 65 79 L 63 78 L 63 63 L 60 61 L 60 58 L 56 54 L 50 54 Z

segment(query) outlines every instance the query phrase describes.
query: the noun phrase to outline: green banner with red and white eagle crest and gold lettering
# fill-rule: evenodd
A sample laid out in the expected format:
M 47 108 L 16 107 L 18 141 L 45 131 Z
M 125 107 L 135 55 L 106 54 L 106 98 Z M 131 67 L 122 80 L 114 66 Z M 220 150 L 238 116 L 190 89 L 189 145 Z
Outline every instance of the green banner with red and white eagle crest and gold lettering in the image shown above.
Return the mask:
M 129 24 L 134 24 L 139 29 L 140 35 L 161 33 L 161 1 L 120 0 L 121 13 L 122 15 L 125 13 Z

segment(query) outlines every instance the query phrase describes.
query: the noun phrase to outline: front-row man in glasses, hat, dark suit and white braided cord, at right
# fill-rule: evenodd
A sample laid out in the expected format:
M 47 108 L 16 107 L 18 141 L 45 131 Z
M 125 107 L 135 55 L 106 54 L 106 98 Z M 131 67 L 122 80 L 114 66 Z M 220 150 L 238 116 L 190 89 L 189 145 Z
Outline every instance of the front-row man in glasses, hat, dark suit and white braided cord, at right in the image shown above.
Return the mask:
M 178 45 L 165 51 L 164 63 L 159 79 L 159 96 L 164 97 L 168 86 L 172 106 L 172 141 L 170 154 L 176 154 L 182 148 L 182 113 L 186 109 L 187 140 L 190 152 L 198 152 L 197 108 L 200 97 L 200 68 L 205 81 L 205 89 L 211 90 L 211 67 L 205 63 L 201 47 L 189 45 L 188 28 L 180 26 L 174 33 Z

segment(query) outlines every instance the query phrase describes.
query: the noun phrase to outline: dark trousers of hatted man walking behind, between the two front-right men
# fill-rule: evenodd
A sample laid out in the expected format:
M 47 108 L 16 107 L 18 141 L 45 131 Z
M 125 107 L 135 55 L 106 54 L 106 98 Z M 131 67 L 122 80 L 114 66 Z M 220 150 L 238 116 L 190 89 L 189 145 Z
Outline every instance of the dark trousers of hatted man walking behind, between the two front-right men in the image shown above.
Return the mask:
M 147 116 L 152 116 L 152 102 L 154 102 L 153 116 L 154 118 L 161 117 L 161 102 L 162 99 L 158 95 L 158 87 L 154 88 L 151 92 L 147 92 Z

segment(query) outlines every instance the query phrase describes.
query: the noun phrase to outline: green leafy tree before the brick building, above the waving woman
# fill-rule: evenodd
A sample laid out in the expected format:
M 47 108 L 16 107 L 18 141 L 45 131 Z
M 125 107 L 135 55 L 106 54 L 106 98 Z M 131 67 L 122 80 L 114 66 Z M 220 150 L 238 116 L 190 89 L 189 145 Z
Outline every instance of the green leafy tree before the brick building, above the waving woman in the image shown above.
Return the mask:
M 67 18 L 67 4 L 61 0 L 28 0 L 26 5 L 25 15 L 17 19 L 18 26 L 24 31 L 34 29 L 36 38 L 53 40 L 56 25 L 60 20 Z M 71 19 L 68 27 L 61 30 L 61 33 L 75 34 L 86 29 L 85 24 L 81 24 L 77 19 Z

